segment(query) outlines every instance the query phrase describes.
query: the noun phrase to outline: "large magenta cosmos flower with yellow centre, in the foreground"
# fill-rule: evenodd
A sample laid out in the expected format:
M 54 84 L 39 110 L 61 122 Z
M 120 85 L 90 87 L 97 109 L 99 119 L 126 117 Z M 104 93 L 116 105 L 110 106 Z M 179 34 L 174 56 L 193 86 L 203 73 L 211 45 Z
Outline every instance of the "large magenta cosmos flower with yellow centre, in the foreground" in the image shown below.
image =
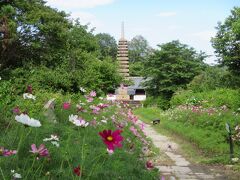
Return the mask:
M 104 130 L 103 132 L 99 132 L 99 135 L 107 145 L 107 148 L 114 151 L 115 147 L 122 147 L 121 142 L 123 141 L 123 137 L 121 136 L 121 133 L 122 130 L 119 129 L 114 132 L 112 132 L 112 130 Z

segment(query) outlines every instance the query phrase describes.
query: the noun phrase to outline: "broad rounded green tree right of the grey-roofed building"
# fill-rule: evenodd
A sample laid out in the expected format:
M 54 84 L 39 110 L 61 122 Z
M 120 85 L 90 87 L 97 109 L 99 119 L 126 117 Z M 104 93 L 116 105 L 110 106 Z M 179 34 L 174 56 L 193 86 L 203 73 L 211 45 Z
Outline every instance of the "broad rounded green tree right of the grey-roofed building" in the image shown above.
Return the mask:
M 185 88 L 205 67 L 204 53 L 197 53 L 179 41 L 159 45 L 144 63 L 149 93 L 170 98 L 178 88 Z

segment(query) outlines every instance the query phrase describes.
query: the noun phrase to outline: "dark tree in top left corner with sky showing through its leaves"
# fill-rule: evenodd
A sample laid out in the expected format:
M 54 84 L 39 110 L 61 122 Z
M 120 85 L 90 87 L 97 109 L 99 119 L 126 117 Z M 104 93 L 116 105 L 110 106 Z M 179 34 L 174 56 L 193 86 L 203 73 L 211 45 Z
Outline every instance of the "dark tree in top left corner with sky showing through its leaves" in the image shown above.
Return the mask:
M 72 26 L 67 17 L 66 13 L 46 6 L 43 0 L 1 1 L 0 64 L 59 64 Z

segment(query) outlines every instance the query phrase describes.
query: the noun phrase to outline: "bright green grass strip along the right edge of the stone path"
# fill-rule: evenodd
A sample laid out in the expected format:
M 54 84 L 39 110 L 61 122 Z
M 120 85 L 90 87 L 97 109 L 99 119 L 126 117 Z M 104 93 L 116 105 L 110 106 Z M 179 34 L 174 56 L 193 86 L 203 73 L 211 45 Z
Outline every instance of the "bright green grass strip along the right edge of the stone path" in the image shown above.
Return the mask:
M 139 108 L 134 113 L 146 123 L 151 123 L 156 118 L 161 119 L 161 123 L 154 128 L 180 144 L 182 153 L 190 161 L 207 164 L 229 163 L 229 146 L 224 140 L 221 141 L 220 138 L 224 136 L 219 134 L 221 131 L 189 125 L 186 123 L 188 119 L 184 116 L 180 116 L 181 121 L 178 121 L 177 112 L 166 114 L 157 108 Z M 172 116 L 176 116 L 174 120 L 170 118 Z

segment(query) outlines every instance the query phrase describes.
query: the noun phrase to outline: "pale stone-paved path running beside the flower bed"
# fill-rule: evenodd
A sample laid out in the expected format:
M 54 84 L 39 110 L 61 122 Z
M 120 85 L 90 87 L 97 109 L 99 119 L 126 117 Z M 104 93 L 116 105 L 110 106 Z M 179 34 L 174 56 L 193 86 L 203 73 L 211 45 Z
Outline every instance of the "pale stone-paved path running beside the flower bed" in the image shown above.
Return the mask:
M 144 132 L 146 133 L 147 137 L 152 139 L 153 144 L 173 161 L 172 165 L 169 166 L 156 166 L 161 175 L 165 177 L 165 180 L 228 179 L 219 173 L 215 173 L 211 168 L 197 164 L 191 164 L 179 153 L 178 144 L 171 141 L 168 137 L 156 132 L 150 125 L 146 124 Z

